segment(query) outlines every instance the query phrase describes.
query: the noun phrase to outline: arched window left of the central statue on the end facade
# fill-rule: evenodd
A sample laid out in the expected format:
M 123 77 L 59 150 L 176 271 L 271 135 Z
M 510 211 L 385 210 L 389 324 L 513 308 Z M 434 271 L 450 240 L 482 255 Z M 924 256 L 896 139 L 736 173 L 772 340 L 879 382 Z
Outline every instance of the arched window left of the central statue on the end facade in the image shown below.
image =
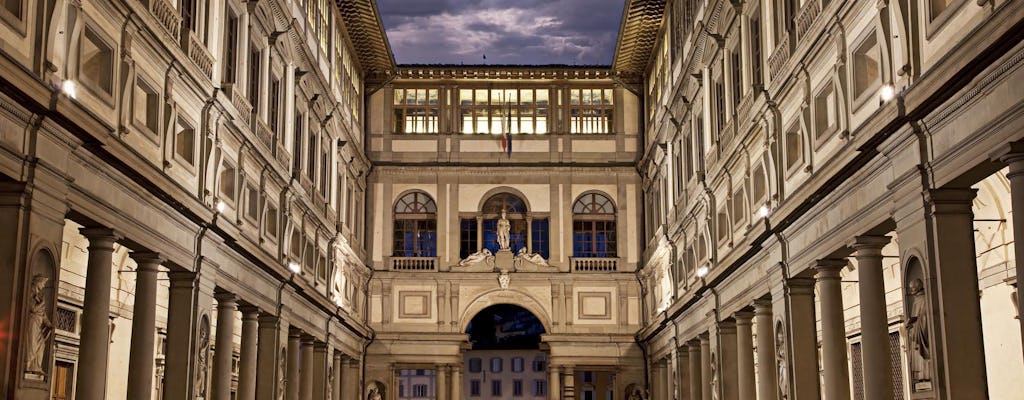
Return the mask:
M 394 257 L 437 257 L 437 204 L 427 193 L 407 193 L 394 205 Z

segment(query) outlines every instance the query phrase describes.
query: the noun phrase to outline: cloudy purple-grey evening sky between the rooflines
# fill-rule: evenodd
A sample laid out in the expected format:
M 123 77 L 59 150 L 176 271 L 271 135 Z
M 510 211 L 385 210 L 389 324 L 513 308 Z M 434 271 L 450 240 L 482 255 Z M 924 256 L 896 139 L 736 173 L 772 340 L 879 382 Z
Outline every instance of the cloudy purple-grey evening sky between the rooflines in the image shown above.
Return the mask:
M 610 64 L 625 0 L 378 0 L 395 60 Z M 483 59 L 486 54 L 487 59 Z

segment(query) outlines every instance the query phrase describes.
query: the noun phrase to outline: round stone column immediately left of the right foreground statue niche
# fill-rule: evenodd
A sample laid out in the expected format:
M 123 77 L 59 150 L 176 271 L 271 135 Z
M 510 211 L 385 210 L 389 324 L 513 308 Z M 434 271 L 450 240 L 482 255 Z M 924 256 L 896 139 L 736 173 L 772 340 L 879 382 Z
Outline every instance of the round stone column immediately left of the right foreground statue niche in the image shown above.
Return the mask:
M 886 287 L 882 271 L 882 248 L 889 236 L 857 236 L 852 246 L 860 279 L 860 337 L 864 370 L 864 397 L 893 399 L 889 318 L 886 315 Z M 974 257 L 972 254 L 971 257 Z M 836 285 L 839 285 L 837 282 Z M 977 295 L 975 295 L 977 299 Z M 823 306 L 823 305 L 822 305 Z M 842 306 L 840 306 L 842 307 Z M 822 314 L 825 311 L 822 308 Z M 822 321 L 824 322 L 824 321 Z M 824 328 L 824 323 L 822 323 Z M 827 367 L 827 365 L 826 365 Z

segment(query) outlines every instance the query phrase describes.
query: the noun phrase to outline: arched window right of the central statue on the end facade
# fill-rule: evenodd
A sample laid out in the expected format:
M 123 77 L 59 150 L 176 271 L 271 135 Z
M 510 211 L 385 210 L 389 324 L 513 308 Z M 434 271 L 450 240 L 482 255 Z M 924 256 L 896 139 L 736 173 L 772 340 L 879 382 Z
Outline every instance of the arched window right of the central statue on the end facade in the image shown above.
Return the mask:
M 586 193 L 572 204 L 572 256 L 617 257 L 615 208 L 600 193 Z

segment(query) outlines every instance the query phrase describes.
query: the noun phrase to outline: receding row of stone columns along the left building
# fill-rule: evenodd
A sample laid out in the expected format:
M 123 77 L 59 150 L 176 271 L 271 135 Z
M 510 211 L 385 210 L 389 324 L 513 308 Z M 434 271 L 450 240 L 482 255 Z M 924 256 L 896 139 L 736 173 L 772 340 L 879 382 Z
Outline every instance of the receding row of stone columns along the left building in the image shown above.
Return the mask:
M 76 399 L 103 400 L 111 343 L 111 265 L 115 243 L 121 237 L 105 227 L 83 228 L 81 233 L 89 241 L 89 255 Z M 157 281 L 165 260 L 147 251 L 131 252 L 130 257 L 138 267 L 127 398 L 146 399 L 153 397 L 156 385 Z M 170 287 L 164 380 L 168 385 L 164 386 L 163 399 L 278 400 L 282 392 L 286 400 L 360 397 L 357 359 L 294 326 L 287 327 L 288 346 L 282 349 L 281 336 L 287 324 L 281 316 L 221 287 L 213 290 L 216 331 L 211 332 L 210 316 L 200 300 L 203 290 L 199 275 L 171 263 L 166 267 Z M 238 384 L 232 388 L 237 313 L 241 313 L 242 335 Z

